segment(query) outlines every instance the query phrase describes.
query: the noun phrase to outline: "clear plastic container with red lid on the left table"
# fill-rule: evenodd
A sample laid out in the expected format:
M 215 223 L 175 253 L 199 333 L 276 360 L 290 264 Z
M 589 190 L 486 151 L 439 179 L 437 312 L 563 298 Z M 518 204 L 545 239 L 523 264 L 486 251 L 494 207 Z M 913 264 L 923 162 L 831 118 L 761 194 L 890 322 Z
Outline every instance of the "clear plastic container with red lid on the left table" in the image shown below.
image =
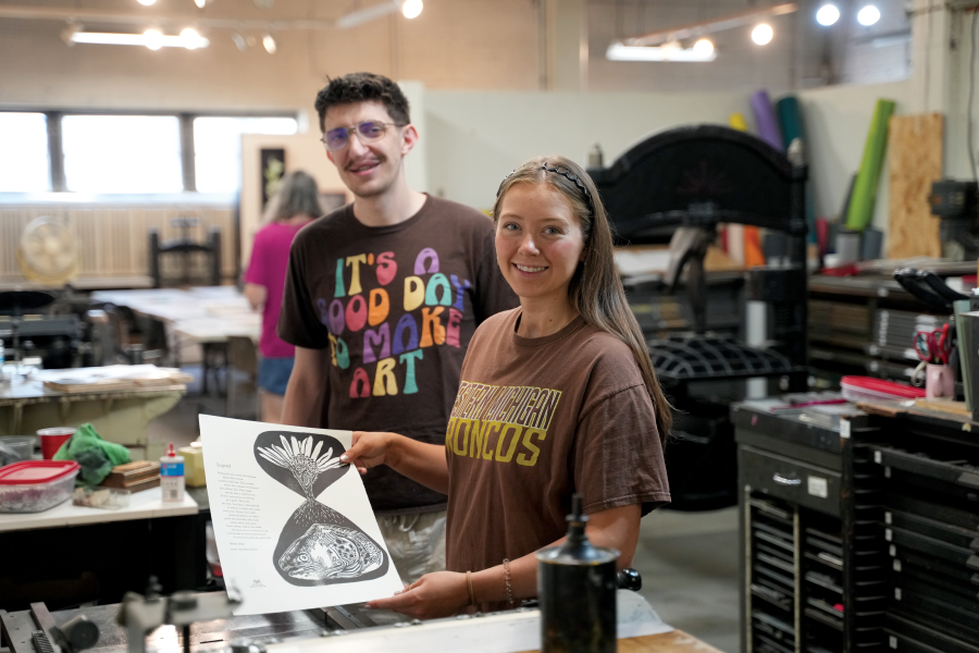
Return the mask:
M 74 460 L 24 460 L 0 468 L 0 513 L 40 513 L 67 501 L 80 469 Z

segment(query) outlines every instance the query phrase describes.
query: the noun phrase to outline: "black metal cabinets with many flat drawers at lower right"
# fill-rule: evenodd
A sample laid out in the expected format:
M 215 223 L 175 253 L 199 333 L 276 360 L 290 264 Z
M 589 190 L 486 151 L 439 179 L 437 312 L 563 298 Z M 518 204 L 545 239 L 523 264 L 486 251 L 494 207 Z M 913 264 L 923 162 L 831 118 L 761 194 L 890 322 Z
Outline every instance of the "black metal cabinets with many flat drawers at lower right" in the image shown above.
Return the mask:
M 732 407 L 742 650 L 979 651 L 979 422 L 814 408 Z

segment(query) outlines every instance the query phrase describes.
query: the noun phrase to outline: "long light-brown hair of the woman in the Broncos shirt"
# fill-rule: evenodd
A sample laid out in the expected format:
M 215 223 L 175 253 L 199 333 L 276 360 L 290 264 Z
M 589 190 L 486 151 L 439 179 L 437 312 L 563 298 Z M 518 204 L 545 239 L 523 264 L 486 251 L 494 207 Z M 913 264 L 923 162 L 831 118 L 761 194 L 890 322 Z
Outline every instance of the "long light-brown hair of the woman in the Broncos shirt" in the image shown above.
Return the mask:
M 548 184 L 571 204 L 581 222 L 584 261 L 579 263 L 571 278 L 569 299 L 585 322 L 615 335 L 632 349 L 656 411 L 656 430 L 666 445 L 673 423 L 673 407 L 662 394 L 642 329 L 629 308 L 625 291 L 616 273 L 611 227 L 595 183 L 580 165 L 565 157 L 536 157 L 499 185 L 493 206 L 494 223 L 499 218 L 504 197 L 516 184 Z

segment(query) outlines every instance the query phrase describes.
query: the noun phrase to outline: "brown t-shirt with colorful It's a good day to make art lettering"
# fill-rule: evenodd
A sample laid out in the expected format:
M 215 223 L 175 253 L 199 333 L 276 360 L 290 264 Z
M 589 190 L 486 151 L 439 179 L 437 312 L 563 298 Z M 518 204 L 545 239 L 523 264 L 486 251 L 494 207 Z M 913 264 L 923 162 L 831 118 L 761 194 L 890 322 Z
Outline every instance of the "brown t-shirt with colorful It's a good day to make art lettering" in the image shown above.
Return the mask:
M 405 222 L 370 227 L 346 206 L 297 234 L 278 334 L 330 347 L 322 427 L 442 444 L 476 325 L 517 304 L 483 213 L 429 197 Z M 379 513 L 445 505 L 388 467 L 371 469 L 364 484 Z

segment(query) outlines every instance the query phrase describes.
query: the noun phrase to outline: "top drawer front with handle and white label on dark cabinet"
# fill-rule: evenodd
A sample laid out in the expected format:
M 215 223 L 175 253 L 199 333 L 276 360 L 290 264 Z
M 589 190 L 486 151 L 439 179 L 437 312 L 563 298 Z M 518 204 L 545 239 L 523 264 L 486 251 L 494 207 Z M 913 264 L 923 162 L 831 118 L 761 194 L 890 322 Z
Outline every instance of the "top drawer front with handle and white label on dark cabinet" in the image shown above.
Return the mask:
M 743 484 L 755 492 L 840 516 L 841 475 L 753 446 L 741 445 L 738 466 Z

